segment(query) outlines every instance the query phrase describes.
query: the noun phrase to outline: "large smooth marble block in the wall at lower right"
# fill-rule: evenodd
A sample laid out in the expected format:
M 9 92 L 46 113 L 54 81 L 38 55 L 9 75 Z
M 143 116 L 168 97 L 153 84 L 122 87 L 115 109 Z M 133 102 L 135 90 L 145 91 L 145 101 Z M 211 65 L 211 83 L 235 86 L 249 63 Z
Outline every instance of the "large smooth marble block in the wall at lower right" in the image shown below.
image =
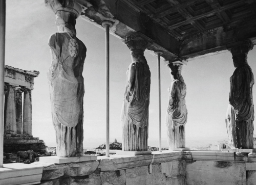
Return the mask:
M 187 185 L 246 185 L 244 163 L 194 161 L 186 166 Z

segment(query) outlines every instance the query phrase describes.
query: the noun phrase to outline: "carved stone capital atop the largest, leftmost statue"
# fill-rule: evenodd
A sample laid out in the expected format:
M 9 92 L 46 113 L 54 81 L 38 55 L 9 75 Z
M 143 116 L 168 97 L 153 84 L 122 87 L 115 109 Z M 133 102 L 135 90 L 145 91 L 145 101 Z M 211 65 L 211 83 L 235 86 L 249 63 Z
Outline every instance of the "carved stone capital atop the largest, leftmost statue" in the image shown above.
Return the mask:
M 75 18 L 82 12 L 82 7 L 74 0 L 45 0 L 45 5 L 55 14 L 57 11 L 65 11 L 72 13 Z

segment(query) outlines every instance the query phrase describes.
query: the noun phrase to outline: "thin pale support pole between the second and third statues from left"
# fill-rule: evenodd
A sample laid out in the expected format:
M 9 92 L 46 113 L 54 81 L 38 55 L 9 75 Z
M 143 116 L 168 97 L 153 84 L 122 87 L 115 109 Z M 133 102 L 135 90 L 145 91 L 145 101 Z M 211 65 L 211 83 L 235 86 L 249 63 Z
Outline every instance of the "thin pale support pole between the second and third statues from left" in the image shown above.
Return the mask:
M 162 152 L 162 136 L 161 136 L 161 75 L 160 75 L 160 55 L 161 51 L 156 51 L 158 62 L 158 123 L 159 123 L 159 152 Z

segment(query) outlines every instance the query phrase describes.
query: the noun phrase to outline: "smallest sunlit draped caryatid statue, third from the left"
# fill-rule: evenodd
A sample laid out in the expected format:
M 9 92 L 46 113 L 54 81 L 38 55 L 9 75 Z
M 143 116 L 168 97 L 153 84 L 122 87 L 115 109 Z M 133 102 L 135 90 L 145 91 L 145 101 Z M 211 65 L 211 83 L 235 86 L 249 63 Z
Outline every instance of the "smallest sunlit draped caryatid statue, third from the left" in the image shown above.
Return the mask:
M 168 64 L 172 78 L 172 83 L 168 88 L 169 100 L 165 120 L 169 149 L 185 148 L 187 108 L 185 102 L 186 84 L 181 75 L 182 66 L 179 63 Z

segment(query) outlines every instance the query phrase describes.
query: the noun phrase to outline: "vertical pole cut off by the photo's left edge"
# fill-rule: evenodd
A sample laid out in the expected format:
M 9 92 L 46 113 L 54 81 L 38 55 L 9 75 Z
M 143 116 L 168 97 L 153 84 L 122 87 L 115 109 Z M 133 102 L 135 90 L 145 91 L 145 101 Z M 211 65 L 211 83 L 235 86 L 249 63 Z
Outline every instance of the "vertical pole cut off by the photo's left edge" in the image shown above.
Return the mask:
M 4 94 L 5 94 L 5 16 L 6 0 L 0 1 L 0 168 L 4 161 Z

